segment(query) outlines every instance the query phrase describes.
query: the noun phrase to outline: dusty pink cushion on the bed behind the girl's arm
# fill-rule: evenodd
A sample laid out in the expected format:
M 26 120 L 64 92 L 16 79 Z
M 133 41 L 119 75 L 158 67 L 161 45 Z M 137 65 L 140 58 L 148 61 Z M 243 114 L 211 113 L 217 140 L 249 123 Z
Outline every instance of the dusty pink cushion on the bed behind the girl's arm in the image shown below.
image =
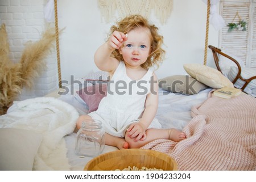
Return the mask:
M 100 104 L 101 99 L 106 96 L 107 88 L 107 83 L 95 84 L 82 88 L 81 90 L 76 91 L 76 93 L 88 105 L 89 112 L 92 112 L 98 109 L 98 104 Z

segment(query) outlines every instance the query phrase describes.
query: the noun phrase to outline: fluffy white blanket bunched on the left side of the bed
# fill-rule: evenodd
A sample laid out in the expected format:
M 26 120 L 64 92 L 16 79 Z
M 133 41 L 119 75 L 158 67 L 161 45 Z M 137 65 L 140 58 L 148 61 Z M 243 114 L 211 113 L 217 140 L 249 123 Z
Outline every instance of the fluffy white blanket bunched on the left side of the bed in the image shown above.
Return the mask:
M 6 115 L 0 116 L 0 128 L 32 130 L 43 136 L 33 170 L 70 170 L 64 136 L 71 134 L 79 113 L 55 98 L 15 101 Z

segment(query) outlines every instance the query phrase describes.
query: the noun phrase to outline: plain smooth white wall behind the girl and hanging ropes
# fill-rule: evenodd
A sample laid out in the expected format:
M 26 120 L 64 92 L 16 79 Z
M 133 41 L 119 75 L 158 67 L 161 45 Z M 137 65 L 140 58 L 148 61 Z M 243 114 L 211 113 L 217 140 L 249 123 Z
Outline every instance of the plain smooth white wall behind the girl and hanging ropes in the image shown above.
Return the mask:
M 114 23 L 101 20 L 96 0 L 58 1 L 61 74 L 63 80 L 70 75 L 83 77 L 98 71 L 94 65 L 94 52 L 106 39 Z M 174 0 L 174 9 L 164 25 L 151 14 L 150 20 L 164 36 L 166 60 L 156 70 L 158 78 L 186 74 L 183 64 L 204 62 L 207 5 L 202 0 Z M 208 44 L 218 45 L 218 31 L 210 25 Z M 208 49 L 208 64 L 214 66 Z

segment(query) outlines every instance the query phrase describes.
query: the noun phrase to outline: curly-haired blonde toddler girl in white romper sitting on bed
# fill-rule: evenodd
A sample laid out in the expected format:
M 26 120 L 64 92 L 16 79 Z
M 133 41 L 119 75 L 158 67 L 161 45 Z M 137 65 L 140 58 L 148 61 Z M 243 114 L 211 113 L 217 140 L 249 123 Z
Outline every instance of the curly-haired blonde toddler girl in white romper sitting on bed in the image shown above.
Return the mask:
M 82 121 L 102 121 L 106 145 L 118 149 L 139 148 L 155 139 L 179 142 L 185 134 L 161 129 L 155 118 L 158 109 L 158 82 L 152 66 L 163 61 L 163 36 L 141 15 L 130 15 L 110 28 L 110 36 L 94 55 L 94 62 L 108 71 L 108 94 L 97 111 L 82 115 Z

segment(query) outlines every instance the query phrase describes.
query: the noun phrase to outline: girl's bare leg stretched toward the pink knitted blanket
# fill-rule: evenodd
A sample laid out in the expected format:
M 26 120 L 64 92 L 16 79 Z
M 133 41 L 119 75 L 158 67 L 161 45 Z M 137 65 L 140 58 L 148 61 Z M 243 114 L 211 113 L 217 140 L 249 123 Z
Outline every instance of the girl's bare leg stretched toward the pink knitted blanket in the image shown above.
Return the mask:
M 185 139 L 185 134 L 176 129 L 148 129 L 146 130 L 146 139 L 143 141 L 134 141 L 135 138 L 130 138 L 125 135 L 126 142 L 129 143 L 131 149 L 138 149 L 155 139 L 171 139 L 172 141 L 179 142 Z

